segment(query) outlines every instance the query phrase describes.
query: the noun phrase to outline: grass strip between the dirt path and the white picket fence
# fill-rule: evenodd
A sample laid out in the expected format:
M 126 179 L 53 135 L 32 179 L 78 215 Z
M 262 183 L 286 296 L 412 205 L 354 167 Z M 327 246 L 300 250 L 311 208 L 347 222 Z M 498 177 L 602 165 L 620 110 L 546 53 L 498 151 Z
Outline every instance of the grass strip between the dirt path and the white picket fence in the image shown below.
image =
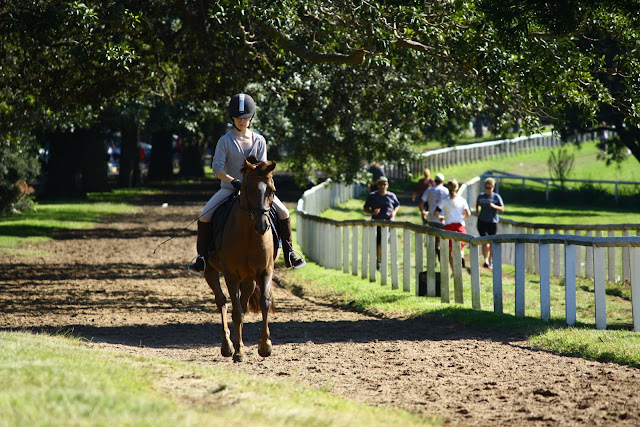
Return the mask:
M 360 276 L 330 270 L 307 261 L 303 269 L 283 272 L 286 286 L 299 294 L 331 300 L 334 304 L 394 316 L 446 316 L 470 327 L 500 329 L 523 334 L 536 348 L 603 362 L 615 362 L 640 367 L 640 334 L 631 331 L 631 302 L 628 284 L 607 286 L 607 327 L 595 330 L 593 283 L 577 279 L 577 325 L 565 325 L 564 283 L 551 279 L 551 320 L 540 320 L 540 293 L 537 276 L 527 275 L 525 287 L 525 317 L 515 316 L 515 279 L 512 267 L 503 270 L 503 313 L 493 312 L 492 279 L 481 272 L 481 310 L 471 308 L 470 276 L 463 275 L 464 303 L 442 304 L 440 298 L 415 296 L 412 281 L 410 292 L 392 290 Z M 451 301 L 453 281 L 450 283 Z

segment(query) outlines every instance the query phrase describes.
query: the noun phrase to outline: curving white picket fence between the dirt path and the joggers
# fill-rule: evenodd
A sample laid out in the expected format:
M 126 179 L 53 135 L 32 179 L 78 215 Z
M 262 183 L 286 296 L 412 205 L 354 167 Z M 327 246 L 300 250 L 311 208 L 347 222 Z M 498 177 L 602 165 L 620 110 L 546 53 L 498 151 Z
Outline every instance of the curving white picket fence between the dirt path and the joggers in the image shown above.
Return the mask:
M 463 184 L 460 192 L 475 204 L 479 190 L 479 178 Z M 565 278 L 566 323 L 576 323 L 576 277 L 590 277 L 594 283 L 595 325 L 606 329 L 606 280 L 628 280 L 631 284 L 633 328 L 640 331 L 640 225 L 616 226 L 561 226 L 555 224 L 527 224 L 502 220 L 499 234 L 491 237 L 475 237 L 419 226 L 408 222 L 391 221 L 334 221 L 318 216 L 324 210 L 358 197 L 365 187 L 324 182 L 307 190 L 297 206 L 297 243 L 305 255 L 326 268 L 360 274 L 382 285 L 391 283 L 392 289 L 400 288 L 402 266 L 402 290 L 413 288 L 418 294 L 419 273 L 427 271 L 427 296 L 436 295 L 435 239 L 442 239 L 441 259 L 449 257 L 448 241 L 466 242 L 469 248 L 471 305 L 481 308 L 480 302 L 480 250 L 482 244 L 493 245 L 493 310 L 503 312 L 502 265 L 515 267 L 515 315 L 525 314 L 525 272 L 540 278 L 540 317 L 551 316 L 550 277 Z M 382 239 L 382 265 L 376 269 L 376 227 L 389 235 Z M 467 230 L 475 233 L 475 217 L 467 222 Z M 607 236 L 604 236 L 604 233 Z M 398 241 L 402 237 L 400 248 Z M 631 233 L 634 233 L 632 235 Z M 584 234 L 584 235 L 583 235 Z M 616 234 L 621 234 L 616 236 Z M 385 235 L 385 234 L 383 234 Z M 415 253 L 411 259 L 411 243 Z M 401 252 L 400 252 L 401 251 Z M 450 302 L 450 272 L 447 262 L 440 264 L 441 301 Z M 607 274 L 608 273 L 608 274 Z M 459 251 L 453 252 L 454 302 L 462 304 L 462 261 Z

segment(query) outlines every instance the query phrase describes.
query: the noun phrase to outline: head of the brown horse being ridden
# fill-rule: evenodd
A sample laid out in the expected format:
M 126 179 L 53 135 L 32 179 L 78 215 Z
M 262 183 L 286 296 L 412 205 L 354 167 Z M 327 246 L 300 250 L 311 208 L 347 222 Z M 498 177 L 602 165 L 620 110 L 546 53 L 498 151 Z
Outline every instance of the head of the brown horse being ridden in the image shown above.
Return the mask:
M 240 205 L 249 213 L 256 233 L 264 234 L 269 229 L 267 215 L 276 193 L 271 174 L 276 162 L 260 162 L 254 156 L 247 157 L 244 162 Z

